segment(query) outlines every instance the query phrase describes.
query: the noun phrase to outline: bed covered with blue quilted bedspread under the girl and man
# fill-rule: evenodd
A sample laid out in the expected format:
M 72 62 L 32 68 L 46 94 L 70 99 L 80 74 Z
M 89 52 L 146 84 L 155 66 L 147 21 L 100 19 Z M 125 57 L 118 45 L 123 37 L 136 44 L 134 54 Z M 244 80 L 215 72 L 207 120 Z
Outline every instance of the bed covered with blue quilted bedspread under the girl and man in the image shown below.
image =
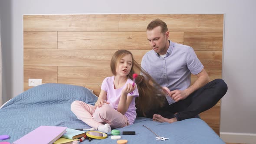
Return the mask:
M 66 84 L 43 84 L 30 88 L 8 101 L 0 109 L 0 135 L 9 135 L 7 142 L 14 142 L 40 125 L 68 128 L 90 128 L 70 111 L 72 101 L 80 100 L 94 105 L 97 96 L 88 88 Z M 156 140 L 147 126 L 160 136 Z M 135 131 L 135 135 L 121 135 L 128 144 L 225 144 L 222 139 L 201 119 L 191 118 L 172 124 L 159 123 L 149 118 L 136 118 L 135 123 L 122 131 Z M 0 142 L 3 142 L 0 140 Z M 117 140 L 93 139 L 90 144 L 115 144 Z M 85 140 L 80 144 L 86 144 Z

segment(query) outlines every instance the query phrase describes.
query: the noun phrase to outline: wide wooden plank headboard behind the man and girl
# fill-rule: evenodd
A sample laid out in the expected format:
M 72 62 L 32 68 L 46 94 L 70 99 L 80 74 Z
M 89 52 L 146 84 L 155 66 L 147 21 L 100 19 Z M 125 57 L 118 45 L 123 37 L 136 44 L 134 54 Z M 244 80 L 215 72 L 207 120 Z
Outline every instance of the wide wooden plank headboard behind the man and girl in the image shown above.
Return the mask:
M 130 50 L 139 63 L 151 50 L 146 27 L 156 18 L 167 23 L 173 42 L 194 48 L 211 80 L 221 78 L 223 14 L 24 15 L 24 91 L 28 79 L 42 79 L 98 95 L 116 50 Z M 200 116 L 219 134 L 220 103 Z

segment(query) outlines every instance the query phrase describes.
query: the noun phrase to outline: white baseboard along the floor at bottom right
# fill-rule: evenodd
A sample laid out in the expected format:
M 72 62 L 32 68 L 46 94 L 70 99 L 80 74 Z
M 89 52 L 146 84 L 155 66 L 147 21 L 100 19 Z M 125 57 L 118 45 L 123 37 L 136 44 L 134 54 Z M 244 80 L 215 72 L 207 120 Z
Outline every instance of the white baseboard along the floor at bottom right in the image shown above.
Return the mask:
M 220 138 L 226 143 L 256 144 L 256 134 L 220 132 Z

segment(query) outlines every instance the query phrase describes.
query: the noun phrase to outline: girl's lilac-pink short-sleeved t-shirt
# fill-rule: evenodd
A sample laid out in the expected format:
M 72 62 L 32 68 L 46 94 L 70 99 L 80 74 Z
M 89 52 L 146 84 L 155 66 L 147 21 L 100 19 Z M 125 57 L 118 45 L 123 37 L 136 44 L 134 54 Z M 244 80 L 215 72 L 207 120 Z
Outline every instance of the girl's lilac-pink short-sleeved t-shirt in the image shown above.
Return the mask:
M 105 92 L 107 92 L 107 99 L 113 108 L 117 110 L 118 108 L 118 103 L 120 100 L 121 92 L 122 89 L 126 87 L 128 83 L 133 83 L 131 79 L 127 79 L 125 85 L 123 85 L 121 88 L 115 89 L 114 88 L 114 78 L 115 76 L 112 77 L 107 77 L 103 80 L 101 89 Z M 136 107 L 135 107 L 135 97 L 139 96 L 138 88 L 137 85 L 135 84 L 136 88 L 135 90 L 131 93 L 129 93 L 127 96 L 133 96 L 133 99 L 131 101 L 131 104 L 129 105 L 128 110 L 125 112 L 125 116 L 127 117 L 128 121 L 130 124 L 133 124 L 136 118 Z

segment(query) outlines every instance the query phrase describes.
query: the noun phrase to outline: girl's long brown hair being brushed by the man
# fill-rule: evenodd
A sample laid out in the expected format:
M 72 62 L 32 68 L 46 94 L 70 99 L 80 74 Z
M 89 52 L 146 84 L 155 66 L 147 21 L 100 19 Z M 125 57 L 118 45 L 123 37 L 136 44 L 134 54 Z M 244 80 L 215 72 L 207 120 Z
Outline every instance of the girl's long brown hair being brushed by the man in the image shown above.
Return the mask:
M 118 61 L 126 56 L 131 55 L 132 66 L 131 72 L 127 75 L 128 78 L 133 79 L 135 69 L 143 75 L 138 75 L 135 82 L 138 87 L 139 97 L 135 99 L 137 116 L 144 116 L 151 118 L 152 115 L 148 111 L 156 111 L 158 108 L 163 107 L 165 97 L 161 85 L 154 81 L 154 79 L 134 60 L 130 51 L 121 49 L 114 53 L 110 62 L 110 68 L 113 75 L 116 75 L 116 67 Z

